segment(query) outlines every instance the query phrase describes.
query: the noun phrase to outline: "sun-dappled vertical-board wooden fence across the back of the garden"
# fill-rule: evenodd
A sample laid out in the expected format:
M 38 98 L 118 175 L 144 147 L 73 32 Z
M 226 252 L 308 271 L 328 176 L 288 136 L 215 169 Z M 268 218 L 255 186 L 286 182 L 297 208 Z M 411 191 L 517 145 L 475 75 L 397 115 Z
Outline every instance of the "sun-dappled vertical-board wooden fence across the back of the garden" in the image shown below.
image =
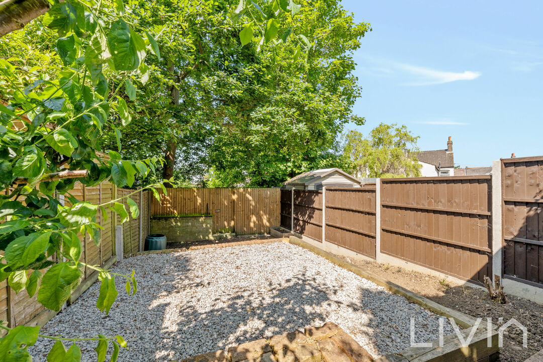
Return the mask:
M 217 232 L 257 234 L 280 224 L 279 188 L 168 188 L 151 198 L 150 217 L 211 214 Z

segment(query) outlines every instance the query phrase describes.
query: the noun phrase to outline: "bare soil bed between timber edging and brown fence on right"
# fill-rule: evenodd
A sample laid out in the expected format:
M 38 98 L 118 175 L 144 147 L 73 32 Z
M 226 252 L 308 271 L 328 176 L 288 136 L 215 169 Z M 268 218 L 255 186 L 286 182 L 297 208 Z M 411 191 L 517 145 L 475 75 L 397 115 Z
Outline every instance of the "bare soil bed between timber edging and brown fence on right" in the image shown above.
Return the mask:
M 540 304 L 509 295 L 506 304 L 498 304 L 489 299 L 486 290 L 466 287 L 449 278 L 438 278 L 397 266 L 360 261 L 339 255 L 338 257 L 445 307 L 459 310 L 473 317 L 481 317 L 483 326 L 486 325 L 487 317 L 491 317 L 493 323 L 498 326 L 511 318 L 521 322 L 528 328 L 528 347 L 522 346 L 521 329 L 515 326 L 509 327 L 504 332 L 503 348 L 500 352 L 502 362 L 521 362 L 543 349 L 543 306 Z M 507 289 L 504 291 L 507 294 Z M 498 318 L 503 318 L 503 322 L 498 321 Z

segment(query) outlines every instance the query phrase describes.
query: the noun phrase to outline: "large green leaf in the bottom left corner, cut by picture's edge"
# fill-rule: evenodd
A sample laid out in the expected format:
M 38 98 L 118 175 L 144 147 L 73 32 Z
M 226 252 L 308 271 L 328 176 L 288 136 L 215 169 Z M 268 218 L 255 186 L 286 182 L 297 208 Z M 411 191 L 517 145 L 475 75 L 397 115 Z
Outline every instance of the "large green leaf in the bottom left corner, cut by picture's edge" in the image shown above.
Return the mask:
M 36 343 L 40 327 L 17 326 L 0 339 L 0 361 L 31 361 L 28 346 Z

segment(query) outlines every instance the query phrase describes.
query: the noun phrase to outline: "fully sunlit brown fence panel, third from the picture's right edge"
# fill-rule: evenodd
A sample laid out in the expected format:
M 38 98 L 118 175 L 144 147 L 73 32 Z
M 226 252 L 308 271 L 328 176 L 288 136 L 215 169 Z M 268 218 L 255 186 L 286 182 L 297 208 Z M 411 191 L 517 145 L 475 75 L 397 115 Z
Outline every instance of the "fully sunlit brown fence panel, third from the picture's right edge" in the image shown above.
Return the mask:
M 375 185 L 326 188 L 325 239 L 375 259 Z

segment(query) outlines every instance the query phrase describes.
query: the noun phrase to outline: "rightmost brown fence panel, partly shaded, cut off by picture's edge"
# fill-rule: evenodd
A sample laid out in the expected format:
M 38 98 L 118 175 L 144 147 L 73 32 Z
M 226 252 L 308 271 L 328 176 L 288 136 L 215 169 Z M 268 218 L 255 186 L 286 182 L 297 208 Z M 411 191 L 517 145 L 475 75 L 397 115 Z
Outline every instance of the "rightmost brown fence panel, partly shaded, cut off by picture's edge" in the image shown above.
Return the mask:
M 502 160 L 503 277 L 543 287 L 543 156 Z

